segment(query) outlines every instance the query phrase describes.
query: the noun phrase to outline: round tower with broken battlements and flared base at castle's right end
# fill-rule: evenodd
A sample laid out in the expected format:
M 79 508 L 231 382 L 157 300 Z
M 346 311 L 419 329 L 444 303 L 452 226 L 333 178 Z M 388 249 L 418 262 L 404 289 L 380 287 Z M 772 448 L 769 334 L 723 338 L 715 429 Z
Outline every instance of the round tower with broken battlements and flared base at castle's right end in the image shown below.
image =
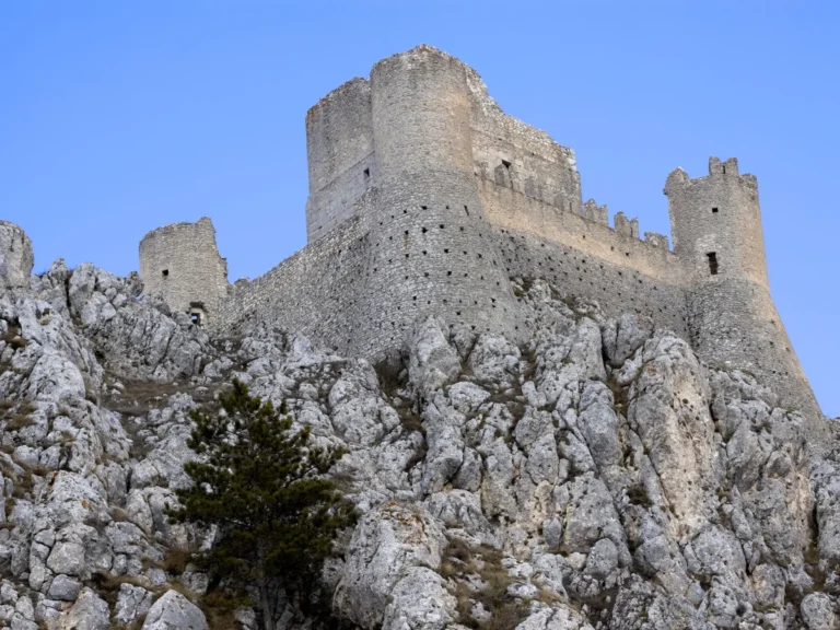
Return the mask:
M 684 266 L 688 328 L 712 366 L 739 369 L 783 404 L 819 413 L 770 295 L 758 184 L 735 159 L 709 160 L 709 175 L 677 168 L 665 184 L 674 253 Z

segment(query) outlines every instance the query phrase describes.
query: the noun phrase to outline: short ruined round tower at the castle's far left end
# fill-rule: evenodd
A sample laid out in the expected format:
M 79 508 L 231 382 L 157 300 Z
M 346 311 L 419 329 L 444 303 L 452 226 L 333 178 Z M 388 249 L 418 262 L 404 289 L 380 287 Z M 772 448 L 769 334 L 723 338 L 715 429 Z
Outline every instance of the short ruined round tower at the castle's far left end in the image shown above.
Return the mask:
M 162 295 L 199 326 L 215 324 L 228 294 L 228 262 L 219 256 L 210 219 L 149 232 L 140 242 L 140 278 L 145 294 Z

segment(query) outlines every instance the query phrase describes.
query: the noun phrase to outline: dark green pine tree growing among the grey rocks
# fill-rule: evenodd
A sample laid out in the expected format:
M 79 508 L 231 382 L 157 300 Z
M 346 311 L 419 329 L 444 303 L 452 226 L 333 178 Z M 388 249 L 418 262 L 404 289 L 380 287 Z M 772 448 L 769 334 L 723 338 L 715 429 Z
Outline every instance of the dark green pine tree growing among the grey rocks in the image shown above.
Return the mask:
M 221 409 L 190 412 L 187 444 L 199 460 L 184 466 L 192 486 L 178 490 L 174 522 L 217 526 L 212 549 L 199 560 L 217 576 L 259 590 L 264 627 L 273 628 L 271 585 L 306 597 L 339 529 L 355 520 L 325 477 L 341 448 L 310 444 L 310 430 L 293 432 L 270 401 L 233 382 Z

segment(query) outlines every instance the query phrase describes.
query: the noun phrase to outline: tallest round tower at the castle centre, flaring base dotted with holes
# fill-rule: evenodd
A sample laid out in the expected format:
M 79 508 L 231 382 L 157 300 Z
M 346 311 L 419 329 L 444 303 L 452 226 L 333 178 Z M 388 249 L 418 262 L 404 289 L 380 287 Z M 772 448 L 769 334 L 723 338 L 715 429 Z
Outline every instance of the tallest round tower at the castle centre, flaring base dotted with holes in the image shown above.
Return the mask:
M 466 73 L 421 46 L 371 72 L 380 186 L 370 223 L 362 354 L 398 348 L 425 314 L 520 336 L 514 298 L 478 197 Z

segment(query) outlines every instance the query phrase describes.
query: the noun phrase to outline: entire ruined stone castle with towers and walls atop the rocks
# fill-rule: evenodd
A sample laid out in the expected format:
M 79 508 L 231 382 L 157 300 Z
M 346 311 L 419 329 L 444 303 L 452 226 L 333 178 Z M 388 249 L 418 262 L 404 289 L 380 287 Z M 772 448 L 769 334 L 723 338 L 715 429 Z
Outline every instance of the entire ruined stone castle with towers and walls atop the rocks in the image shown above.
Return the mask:
M 377 359 L 427 314 L 527 334 L 510 278 L 547 278 L 610 315 L 650 315 L 708 363 L 746 370 L 818 409 L 773 305 L 752 175 L 712 158 L 665 183 L 674 242 L 582 202 L 574 152 L 505 115 L 478 73 L 429 46 L 378 61 L 306 115 L 308 244 L 253 282 L 228 282 L 209 219 L 150 232 L 147 293 L 199 325 L 269 319 Z

